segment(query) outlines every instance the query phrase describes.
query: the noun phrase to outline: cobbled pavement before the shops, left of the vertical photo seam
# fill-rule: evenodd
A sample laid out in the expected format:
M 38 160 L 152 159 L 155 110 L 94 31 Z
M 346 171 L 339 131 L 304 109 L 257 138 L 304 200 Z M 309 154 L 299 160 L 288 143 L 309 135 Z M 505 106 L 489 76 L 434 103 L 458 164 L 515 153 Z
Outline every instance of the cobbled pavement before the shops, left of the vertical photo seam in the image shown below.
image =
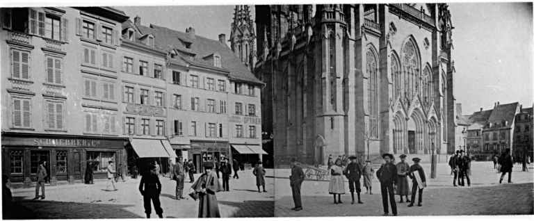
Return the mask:
M 230 191 L 217 193 L 219 209 L 223 218 L 273 217 L 274 179 L 273 170 L 266 169 L 268 193 L 257 193 L 256 178 L 252 170 L 239 171 L 240 179 L 230 179 Z M 200 174 L 195 175 L 199 177 Z M 187 194 L 191 183 L 186 179 L 184 197 L 175 199 L 176 182 L 160 177 L 163 189 L 160 200 L 164 218 L 196 218 L 198 201 Z M 222 181 L 222 179 L 220 180 Z M 35 188 L 12 190 L 13 199 L 38 214 L 39 219 L 102 219 L 145 218 L 143 196 L 140 195 L 139 179 L 119 181 L 117 191 L 106 192 L 106 181 L 94 185 L 75 184 L 47 187 L 46 199 L 31 200 Z M 152 218 L 158 218 L 152 208 Z

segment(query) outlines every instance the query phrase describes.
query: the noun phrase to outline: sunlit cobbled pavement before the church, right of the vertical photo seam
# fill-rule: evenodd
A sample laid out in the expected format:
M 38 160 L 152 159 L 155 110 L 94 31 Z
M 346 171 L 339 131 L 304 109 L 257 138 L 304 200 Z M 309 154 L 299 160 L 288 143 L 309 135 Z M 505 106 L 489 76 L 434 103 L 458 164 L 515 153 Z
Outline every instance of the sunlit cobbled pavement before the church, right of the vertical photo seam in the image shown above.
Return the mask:
M 410 165 L 412 163 L 410 162 Z M 428 177 L 430 164 L 421 164 Z M 521 172 L 521 165 L 515 165 L 512 181 L 506 183 L 508 174 L 499 184 L 499 177 L 492 162 L 471 163 L 471 187 L 454 187 L 453 176 L 448 165 L 437 165 L 437 178 L 427 179 L 428 187 L 423 190 L 423 206 L 407 207 L 398 203 L 398 215 L 519 215 L 534 214 L 534 168 Z M 303 168 L 303 170 L 306 170 Z M 377 169 L 375 169 L 376 171 Z M 302 211 L 292 211 L 294 206 L 289 186 L 289 169 L 275 170 L 275 217 L 312 217 L 312 216 L 380 216 L 383 212 L 382 195 L 378 179 L 373 179 L 373 195 L 366 195 L 362 183 L 364 204 L 350 204 L 350 192 L 346 181 L 346 194 L 341 195 L 343 204 L 335 205 L 332 195 L 328 194 L 328 181 L 306 180 L 302 183 Z M 329 180 L 329 179 L 325 179 Z M 410 181 L 411 183 L 411 181 Z M 356 197 L 356 195 L 355 195 Z M 417 200 L 417 196 L 416 196 Z M 391 215 L 391 208 L 389 208 Z

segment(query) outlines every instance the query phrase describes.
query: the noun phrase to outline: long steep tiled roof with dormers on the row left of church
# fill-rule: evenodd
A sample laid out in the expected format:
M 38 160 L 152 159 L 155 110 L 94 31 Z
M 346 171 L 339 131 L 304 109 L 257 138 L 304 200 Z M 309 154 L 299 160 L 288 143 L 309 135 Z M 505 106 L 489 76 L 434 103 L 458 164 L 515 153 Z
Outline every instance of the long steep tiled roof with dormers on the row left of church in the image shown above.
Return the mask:
M 234 52 L 227 47 L 226 44 L 221 44 L 218 40 L 211 40 L 199 35 L 195 35 L 195 38 L 191 38 L 188 33 L 175 31 L 163 26 L 156 26 L 154 24 L 151 24 L 149 27 L 147 27 L 143 25 L 136 25 L 131 21 L 127 21 L 124 22 L 122 27 L 124 28 L 127 26 L 135 26 L 141 35 L 152 33 L 155 38 L 154 47 L 157 49 L 163 51 L 178 49 L 179 51 L 185 51 L 187 54 L 194 56 L 193 59 L 190 59 L 183 54 L 179 54 L 177 56 L 179 59 L 175 60 L 175 63 L 190 63 L 193 65 L 201 65 L 213 69 L 221 69 L 229 72 L 229 78 L 231 79 L 248 81 L 250 83 L 262 83 L 250 72 L 250 70 L 241 62 L 241 59 L 239 59 Z M 181 41 L 191 42 L 191 49 L 187 49 Z M 205 56 L 216 52 L 221 58 L 220 68 L 214 67 L 213 62 L 202 59 Z

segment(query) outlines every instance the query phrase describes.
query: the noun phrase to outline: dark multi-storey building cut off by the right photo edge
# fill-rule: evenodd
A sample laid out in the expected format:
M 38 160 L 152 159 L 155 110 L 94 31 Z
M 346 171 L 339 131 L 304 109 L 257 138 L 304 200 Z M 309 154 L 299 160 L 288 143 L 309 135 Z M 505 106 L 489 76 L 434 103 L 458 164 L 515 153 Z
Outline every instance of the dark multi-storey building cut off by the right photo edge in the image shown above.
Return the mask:
M 514 154 L 523 157 L 524 154 L 533 158 L 533 130 L 534 118 L 532 108 L 523 108 L 519 106 L 519 113 L 515 115 L 515 129 L 512 136 L 515 137 L 513 142 Z

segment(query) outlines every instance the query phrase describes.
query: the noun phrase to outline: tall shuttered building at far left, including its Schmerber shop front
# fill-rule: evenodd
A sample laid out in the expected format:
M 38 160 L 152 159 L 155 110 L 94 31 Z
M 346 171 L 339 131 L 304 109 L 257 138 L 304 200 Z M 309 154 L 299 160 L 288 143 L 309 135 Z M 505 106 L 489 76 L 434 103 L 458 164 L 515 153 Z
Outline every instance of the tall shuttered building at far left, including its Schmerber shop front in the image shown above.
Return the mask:
M 51 184 L 122 163 L 118 47 L 127 15 L 113 8 L 2 8 L 2 174 L 29 187 L 39 161 Z M 115 65 L 113 65 L 115 64 Z

